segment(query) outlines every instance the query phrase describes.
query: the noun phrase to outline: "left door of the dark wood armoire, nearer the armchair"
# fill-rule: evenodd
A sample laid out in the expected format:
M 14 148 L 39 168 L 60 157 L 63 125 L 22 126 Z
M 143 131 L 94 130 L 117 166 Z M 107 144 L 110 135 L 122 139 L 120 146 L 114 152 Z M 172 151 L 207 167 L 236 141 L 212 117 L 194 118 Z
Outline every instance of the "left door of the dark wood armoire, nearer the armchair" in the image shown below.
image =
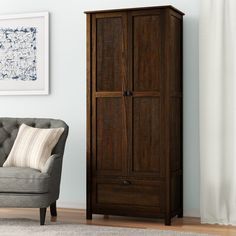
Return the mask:
M 127 172 L 127 14 L 92 16 L 92 165 L 95 175 Z

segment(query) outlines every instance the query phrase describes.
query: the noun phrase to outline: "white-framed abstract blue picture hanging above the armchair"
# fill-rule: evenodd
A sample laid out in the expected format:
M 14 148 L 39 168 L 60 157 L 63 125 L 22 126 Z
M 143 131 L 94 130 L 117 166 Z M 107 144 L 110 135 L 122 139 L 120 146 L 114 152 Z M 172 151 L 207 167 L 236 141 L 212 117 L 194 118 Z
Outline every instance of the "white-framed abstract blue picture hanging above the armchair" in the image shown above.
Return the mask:
M 49 13 L 0 16 L 0 95 L 49 93 Z

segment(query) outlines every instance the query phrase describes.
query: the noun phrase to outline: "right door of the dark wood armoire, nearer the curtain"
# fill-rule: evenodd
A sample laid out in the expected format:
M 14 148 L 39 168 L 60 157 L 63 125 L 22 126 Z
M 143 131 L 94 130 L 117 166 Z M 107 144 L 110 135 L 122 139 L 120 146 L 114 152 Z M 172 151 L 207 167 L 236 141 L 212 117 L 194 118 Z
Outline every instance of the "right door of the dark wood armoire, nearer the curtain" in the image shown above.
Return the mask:
M 163 13 L 128 15 L 128 169 L 135 177 L 165 175 Z

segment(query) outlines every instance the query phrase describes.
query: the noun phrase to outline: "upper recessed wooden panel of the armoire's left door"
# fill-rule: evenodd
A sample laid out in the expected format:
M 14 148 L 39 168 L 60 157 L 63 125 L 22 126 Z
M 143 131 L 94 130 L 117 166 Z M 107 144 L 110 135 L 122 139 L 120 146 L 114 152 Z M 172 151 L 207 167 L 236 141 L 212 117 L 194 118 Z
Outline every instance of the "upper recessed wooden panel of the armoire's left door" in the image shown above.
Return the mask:
M 96 90 L 121 91 L 123 79 L 123 18 L 96 19 Z

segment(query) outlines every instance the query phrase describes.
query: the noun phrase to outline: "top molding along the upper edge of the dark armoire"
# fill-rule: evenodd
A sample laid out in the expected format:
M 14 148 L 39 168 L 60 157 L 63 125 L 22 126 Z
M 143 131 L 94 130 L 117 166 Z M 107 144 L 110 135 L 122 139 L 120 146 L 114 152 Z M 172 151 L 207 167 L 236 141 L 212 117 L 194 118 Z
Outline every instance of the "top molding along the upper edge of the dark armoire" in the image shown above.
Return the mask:
M 136 11 L 136 10 L 150 10 L 150 9 L 163 9 L 163 8 L 169 8 L 176 12 L 178 12 L 181 15 L 184 15 L 184 13 L 177 8 L 171 6 L 171 5 L 165 5 L 165 6 L 151 6 L 151 7 L 135 7 L 135 8 L 117 8 L 117 9 L 106 9 L 106 10 L 94 10 L 94 11 L 85 11 L 86 14 L 91 13 L 105 13 L 105 12 L 117 12 L 117 11 Z

